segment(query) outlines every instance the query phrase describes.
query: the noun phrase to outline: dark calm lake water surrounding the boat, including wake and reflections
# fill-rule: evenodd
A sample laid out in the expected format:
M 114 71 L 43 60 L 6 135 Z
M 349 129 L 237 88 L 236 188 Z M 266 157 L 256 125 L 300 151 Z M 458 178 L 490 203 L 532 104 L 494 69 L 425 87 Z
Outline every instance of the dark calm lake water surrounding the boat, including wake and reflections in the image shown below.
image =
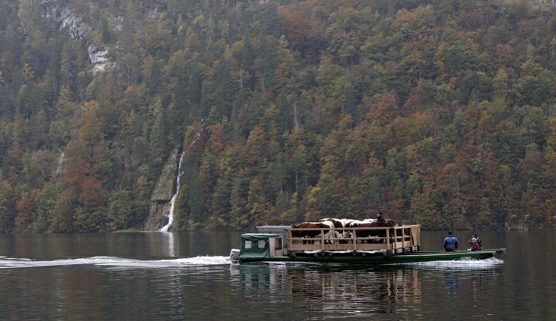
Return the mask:
M 465 243 L 471 232 L 455 233 Z M 444 232 L 423 231 L 421 248 Z M 1 320 L 556 320 L 554 232 L 480 233 L 484 261 L 225 260 L 240 233 L 0 235 Z

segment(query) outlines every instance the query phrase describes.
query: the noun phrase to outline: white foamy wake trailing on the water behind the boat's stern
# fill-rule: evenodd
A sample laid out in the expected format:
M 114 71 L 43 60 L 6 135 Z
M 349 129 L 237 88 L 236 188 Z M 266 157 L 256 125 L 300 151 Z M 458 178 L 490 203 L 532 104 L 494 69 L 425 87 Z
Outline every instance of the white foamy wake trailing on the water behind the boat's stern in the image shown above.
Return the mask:
M 90 258 L 67 258 L 52 261 L 34 261 L 29 258 L 8 258 L 0 256 L 0 269 L 10 268 L 44 268 L 69 265 L 96 265 L 111 268 L 183 268 L 206 265 L 228 265 L 227 256 L 196 256 L 192 258 L 174 258 L 167 260 L 134 260 L 112 256 L 94 256 Z

